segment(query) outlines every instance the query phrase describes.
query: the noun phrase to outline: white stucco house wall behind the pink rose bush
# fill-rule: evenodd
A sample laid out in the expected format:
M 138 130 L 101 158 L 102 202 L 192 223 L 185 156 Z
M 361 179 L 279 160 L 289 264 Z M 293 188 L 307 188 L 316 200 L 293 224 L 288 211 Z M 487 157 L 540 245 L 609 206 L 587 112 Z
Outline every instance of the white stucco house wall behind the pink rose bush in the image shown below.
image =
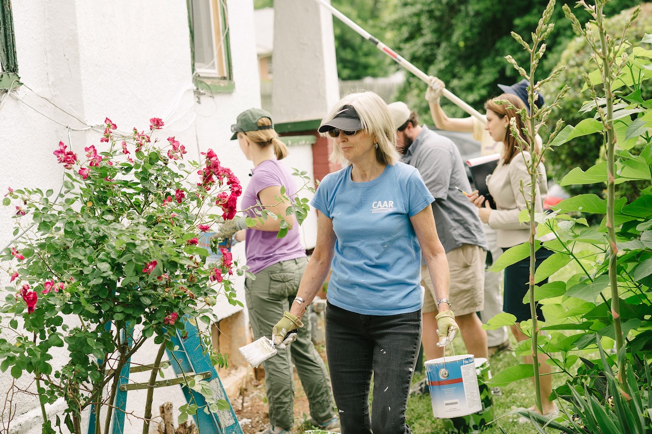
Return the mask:
M 252 0 L 228 0 L 227 5 L 235 91 L 196 96 L 185 1 L 117 0 L 110 5 L 82 0 L 13 2 L 19 74 L 25 86 L 9 95 L 0 93 L 0 99 L 6 98 L 0 110 L 0 195 L 7 192 L 7 186 L 58 192 L 63 167 L 52 151 L 59 140 L 80 155 L 85 154 L 84 147 L 99 145 L 102 128 L 70 131 L 68 136 L 65 126 L 46 116 L 74 128 L 100 124 L 110 117 L 122 131 L 134 126 L 146 129 L 150 117 L 160 117 L 166 123 L 158 133 L 160 139 L 176 136 L 186 145 L 186 158 L 194 160 L 199 152 L 213 148 L 245 186 L 251 163 L 244 160 L 237 142 L 229 139 L 237 114 L 260 104 L 253 5 Z M 312 171 L 312 155 L 308 158 L 306 150 L 302 152 L 296 152 L 295 156 L 301 157 L 289 166 Z M 12 208 L 0 207 L 0 248 L 12 239 L 12 214 Z M 304 237 L 314 237 L 314 233 Z M 233 253 L 244 259 L 243 245 L 235 246 Z M 1 263 L 0 267 L 6 270 L 10 264 Z M 242 283 L 238 281 L 237 287 L 239 299 L 244 301 Z M 7 285 L 8 274 L 0 272 L 0 287 Z M 216 311 L 223 318 L 239 309 L 222 302 Z M 149 355 L 134 362 L 153 360 L 155 347 L 143 350 Z M 63 362 L 65 354 L 59 351 L 55 360 Z M 166 378 L 171 376 L 166 373 Z M 0 373 L 0 397 L 10 384 L 10 375 Z M 20 385 L 29 383 L 21 381 Z M 156 390 L 155 409 L 166 400 L 172 400 L 176 408 L 185 402 L 177 386 Z M 128 411 L 141 414 L 143 401 L 144 394 L 130 392 Z M 18 394 L 14 404 L 18 411 L 11 432 L 40 432 L 37 400 Z M 55 405 L 52 414 L 60 411 Z M 140 433 L 140 427 L 136 424 L 127 432 Z

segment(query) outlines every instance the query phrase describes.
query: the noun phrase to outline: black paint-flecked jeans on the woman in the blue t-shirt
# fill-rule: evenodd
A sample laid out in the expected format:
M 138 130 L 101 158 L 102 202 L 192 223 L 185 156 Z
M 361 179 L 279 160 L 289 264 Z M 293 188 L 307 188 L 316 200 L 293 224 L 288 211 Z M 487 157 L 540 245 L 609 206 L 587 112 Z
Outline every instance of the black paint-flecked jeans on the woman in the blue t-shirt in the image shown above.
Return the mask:
M 411 433 L 406 407 L 420 344 L 421 310 L 361 315 L 327 304 L 326 355 L 342 433 Z

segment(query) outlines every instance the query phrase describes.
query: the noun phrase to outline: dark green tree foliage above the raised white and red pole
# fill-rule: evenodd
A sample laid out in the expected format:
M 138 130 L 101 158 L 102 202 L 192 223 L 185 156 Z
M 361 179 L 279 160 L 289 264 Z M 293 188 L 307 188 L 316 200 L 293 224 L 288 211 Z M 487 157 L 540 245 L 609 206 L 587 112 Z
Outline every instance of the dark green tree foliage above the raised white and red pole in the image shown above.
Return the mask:
M 516 42 L 511 31 L 529 35 L 537 27 L 546 0 L 509 3 L 497 0 L 394 0 L 391 45 L 400 55 L 427 74 L 443 80 L 452 93 L 475 108 L 482 108 L 488 98 L 500 93 L 497 85 L 510 85 L 520 80 L 505 55 L 512 55 L 519 64 L 527 64 L 528 54 Z M 639 0 L 613 0 L 605 12 L 614 12 L 638 5 Z M 574 1 L 557 2 L 552 16 L 556 27 L 547 38 L 546 57 L 540 66 L 541 76 L 552 71 L 561 52 L 572 38 L 571 23 L 565 20 L 561 5 L 574 6 Z M 578 18 L 586 22 L 584 11 Z M 419 113 L 428 113 L 423 95 L 425 85 L 408 75 L 399 91 L 402 98 Z M 546 96 L 546 95 L 544 95 Z M 446 113 L 466 116 L 462 109 L 442 101 Z

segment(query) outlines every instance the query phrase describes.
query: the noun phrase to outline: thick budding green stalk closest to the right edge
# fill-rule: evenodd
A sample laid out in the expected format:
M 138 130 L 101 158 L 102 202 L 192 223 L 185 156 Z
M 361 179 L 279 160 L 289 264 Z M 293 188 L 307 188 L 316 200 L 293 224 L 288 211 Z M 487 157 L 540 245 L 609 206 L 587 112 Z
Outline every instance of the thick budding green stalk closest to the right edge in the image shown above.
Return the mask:
M 609 284 L 611 287 L 611 308 L 612 317 L 614 317 L 614 334 L 615 334 L 615 347 L 617 353 L 623 347 L 623 331 L 620 321 L 620 306 L 618 296 L 618 274 L 617 274 L 617 254 L 618 248 L 616 247 L 615 240 L 615 223 L 614 223 L 614 209 L 615 209 L 615 136 L 614 136 L 614 92 L 612 91 L 612 56 L 609 50 L 606 32 L 604 29 L 604 14 L 602 8 L 604 3 L 596 1 L 595 21 L 597 23 L 600 33 L 600 52 L 596 53 L 600 61 L 602 61 L 602 81 L 604 83 L 604 96 L 606 99 L 606 119 L 602 120 L 604 124 L 604 132 L 606 133 L 606 151 L 607 151 L 607 215 L 606 227 L 609 235 L 609 244 L 611 253 L 609 255 Z M 619 372 L 623 372 L 623 366 L 618 367 Z M 622 381 L 622 379 L 621 379 Z

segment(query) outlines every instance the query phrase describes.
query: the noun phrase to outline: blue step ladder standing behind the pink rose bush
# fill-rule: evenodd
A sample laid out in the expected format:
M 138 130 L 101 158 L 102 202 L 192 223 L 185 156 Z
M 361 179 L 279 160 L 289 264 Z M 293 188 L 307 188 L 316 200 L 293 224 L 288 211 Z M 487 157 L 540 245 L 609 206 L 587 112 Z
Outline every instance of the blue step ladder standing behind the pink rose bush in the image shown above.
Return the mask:
M 205 346 L 201 341 L 201 336 L 197 326 L 194 322 L 188 321 L 186 317 L 183 317 L 182 321 L 185 326 L 185 336 L 181 336 L 181 333 L 177 331 L 175 336 L 171 336 L 170 339 L 173 347 L 175 347 L 175 351 L 166 349 L 166 353 L 170 360 L 167 363 L 172 367 L 176 378 L 157 381 L 154 387 L 179 384 L 181 390 L 183 390 L 186 402 L 194 403 L 199 407 L 193 415 L 193 418 L 195 425 L 198 427 L 201 434 L 243 434 L 243 430 L 238 423 L 235 412 L 233 411 L 233 406 L 231 406 L 229 398 L 226 396 L 224 386 L 222 386 L 222 381 L 220 381 L 220 377 L 217 375 L 217 371 L 211 363 L 211 357 L 207 352 L 205 352 Z M 110 330 L 110 327 L 111 324 L 108 323 L 107 331 Z M 133 327 L 128 327 L 127 330 L 122 330 L 123 340 L 126 340 L 128 345 L 132 345 L 133 332 Z M 101 360 L 99 362 L 101 364 Z M 131 368 L 129 360 L 125 363 L 125 366 L 123 366 L 118 379 L 115 403 L 113 404 L 115 405 L 115 409 L 113 411 L 111 424 L 112 434 L 127 434 L 125 431 L 127 392 L 129 390 L 147 388 L 147 384 L 129 383 L 129 374 L 133 372 L 148 371 L 151 369 L 153 369 L 153 366 L 136 366 Z M 213 398 L 215 400 L 223 399 L 228 403 L 228 408 L 220 409 L 217 412 L 209 411 L 206 413 L 204 411 L 204 409 L 208 408 L 206 399 L 199 392 L 189 389 L 186 386 L 186 378 L 196 377 L 197 375 L 200 375 L 205 381 L 209 382 L 209 385 L 213 390 Z M 95 417 L 95 405 L 92 405 L 91 414 L 89 416 L 88 434 L 95 433 Z

